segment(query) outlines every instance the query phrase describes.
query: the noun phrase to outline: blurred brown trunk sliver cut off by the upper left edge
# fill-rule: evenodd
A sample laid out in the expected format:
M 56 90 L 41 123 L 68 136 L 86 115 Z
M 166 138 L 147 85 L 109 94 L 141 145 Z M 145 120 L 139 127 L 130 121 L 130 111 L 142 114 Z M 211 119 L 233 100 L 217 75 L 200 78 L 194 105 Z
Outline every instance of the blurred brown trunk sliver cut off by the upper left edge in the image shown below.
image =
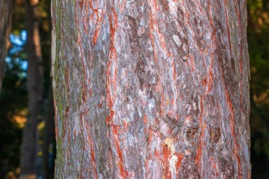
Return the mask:
M 4 79 L 8 37 L 11 30 L 11 0 L 0 0 L 0 91 Z

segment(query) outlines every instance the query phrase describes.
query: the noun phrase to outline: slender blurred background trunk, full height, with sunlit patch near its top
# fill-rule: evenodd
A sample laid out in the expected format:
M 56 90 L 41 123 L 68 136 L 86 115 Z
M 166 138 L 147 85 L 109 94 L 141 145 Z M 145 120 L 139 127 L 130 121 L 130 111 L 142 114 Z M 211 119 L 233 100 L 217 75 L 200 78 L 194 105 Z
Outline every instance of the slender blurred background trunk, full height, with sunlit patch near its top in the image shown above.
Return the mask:
M 21 151 L 21 178 L 36 178 L 37 169 L 37 125 L 42 109 L 43 69 L 38 19 L 38 1 L 27 3 L 26 28 L 28 39 L 28 120 L 23 130 Z

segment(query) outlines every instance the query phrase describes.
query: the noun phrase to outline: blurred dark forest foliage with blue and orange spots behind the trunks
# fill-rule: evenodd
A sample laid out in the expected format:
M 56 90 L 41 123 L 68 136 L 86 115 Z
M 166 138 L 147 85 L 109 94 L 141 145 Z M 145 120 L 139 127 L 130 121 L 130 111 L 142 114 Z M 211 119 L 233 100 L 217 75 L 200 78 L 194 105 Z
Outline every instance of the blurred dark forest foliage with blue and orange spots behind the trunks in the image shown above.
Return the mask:
M 269 178 L 269 1 L 247 1 L 252 178 Z M 33 98 L 30 96 L 31 83 L 42 89 L 37 102 L 40 106 L 38 130 L 33 143 L 36 145 L 36 172 L 38 178 L 53 178 L 55 137 L 50 85 L 50 0 L 35 0 L 36 4 L 30 8 L 26 2 L 15 0 L 12 6 L 12 28 L 0 93 L 0 178 L 18 178 L 21 172 L 23 128 L 30 116 L 29 106 Z M 29 41 L 36 40 L 31 37 L 33 32 L 29 33 L 36 30 L 31 25 L 37 25 L 40 36 L 40 62 L 36 64 L 42 69 L 39 77 L 31 74 L 28 68 L 28 64 L 33 63 L 30 59 L 31 51 L 34 51 Z

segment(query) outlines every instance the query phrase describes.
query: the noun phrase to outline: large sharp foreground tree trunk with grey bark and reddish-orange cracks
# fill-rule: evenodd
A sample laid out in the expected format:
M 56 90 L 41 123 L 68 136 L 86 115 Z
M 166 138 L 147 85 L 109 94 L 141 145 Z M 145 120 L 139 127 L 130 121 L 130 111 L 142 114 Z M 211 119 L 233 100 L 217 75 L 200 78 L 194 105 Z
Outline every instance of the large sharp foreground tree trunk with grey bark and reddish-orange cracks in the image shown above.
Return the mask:
M 52 0 L 55 178 L 251 178 L 245 0 Z

